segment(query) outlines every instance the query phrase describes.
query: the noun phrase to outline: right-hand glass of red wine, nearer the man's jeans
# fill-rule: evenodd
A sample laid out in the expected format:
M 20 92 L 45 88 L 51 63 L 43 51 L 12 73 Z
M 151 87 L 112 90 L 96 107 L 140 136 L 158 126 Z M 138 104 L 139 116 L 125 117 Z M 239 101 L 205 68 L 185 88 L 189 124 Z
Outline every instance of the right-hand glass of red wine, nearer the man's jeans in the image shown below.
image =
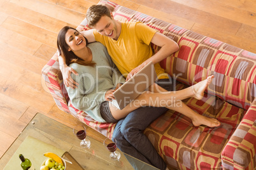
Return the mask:
M 106 138 L 104 140 L 103 144 L 108 149 L 108 151 L 111 152 L 110 158 L 112 160 L 119 160 L 121 154 L 119 152 L 115 151 L 115 150 L 117 150 L 117 140 L 115 138 L 112 138 L 112 139 L 113 139 L 113 141 L 111 141 L 109 138 Z

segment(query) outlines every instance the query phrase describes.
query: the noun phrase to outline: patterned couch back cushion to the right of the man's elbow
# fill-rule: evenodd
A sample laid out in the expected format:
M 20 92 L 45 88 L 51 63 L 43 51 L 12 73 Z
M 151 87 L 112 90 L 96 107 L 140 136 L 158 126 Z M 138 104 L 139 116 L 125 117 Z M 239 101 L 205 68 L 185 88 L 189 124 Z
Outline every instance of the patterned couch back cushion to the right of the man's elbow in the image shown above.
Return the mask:
M 208 93 L 248 110 L 256 96 L 256 54 L 191 31 L 178 44 L 180 51 L 166 65 L 169 74 L 190 85 L 213 74 Z

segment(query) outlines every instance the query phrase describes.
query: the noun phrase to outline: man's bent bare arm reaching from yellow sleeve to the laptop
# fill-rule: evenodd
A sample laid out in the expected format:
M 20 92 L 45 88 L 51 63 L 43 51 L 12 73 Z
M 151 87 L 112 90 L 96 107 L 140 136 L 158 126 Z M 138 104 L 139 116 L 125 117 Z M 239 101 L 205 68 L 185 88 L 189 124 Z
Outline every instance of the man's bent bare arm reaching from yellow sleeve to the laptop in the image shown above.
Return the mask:
M 178 51 L 179 49 L 179 46 L 175 41 L 169 39 L 168 37 L 164 36 L 164 34 L 161 34 L 159 32 L 155 33 L 151 42 L 157 46 L 160 46 L 161 49 L 157 53 L 155 53 L 155 55 L 148 58 L 148 60 L 141 63 L 141 65 L 131 70 L 131 72 L 127 75 L 126 81 L 130 79 L 134 74 L 136 74 L 136 72 L 141 70 L 147 63 L 151 61 L 153 62 L 153 64 L 158 63 L 164 60 L 164 58 L 166 58 L 167 56 Z

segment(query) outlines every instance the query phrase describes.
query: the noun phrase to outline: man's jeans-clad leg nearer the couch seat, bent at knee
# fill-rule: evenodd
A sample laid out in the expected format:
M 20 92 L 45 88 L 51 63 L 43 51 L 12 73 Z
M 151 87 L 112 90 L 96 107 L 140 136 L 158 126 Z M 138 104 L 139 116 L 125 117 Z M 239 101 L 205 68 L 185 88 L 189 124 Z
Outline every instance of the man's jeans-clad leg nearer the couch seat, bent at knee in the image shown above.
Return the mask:
M 125 140 L 131 143 L 132 147 L 136 148 L 136 150 L 138 150 L 150 164 L 159 169 L 166 169 L 166 164 L 143 131 L 151 124 L 151 122 L 167 112 L 167 110 L 167 108 L 157 107 L 138 108 L 125 117 L 120 127 L 120 131 Z M 127 154 L 130 155 L 134 153 L 129 151 Z

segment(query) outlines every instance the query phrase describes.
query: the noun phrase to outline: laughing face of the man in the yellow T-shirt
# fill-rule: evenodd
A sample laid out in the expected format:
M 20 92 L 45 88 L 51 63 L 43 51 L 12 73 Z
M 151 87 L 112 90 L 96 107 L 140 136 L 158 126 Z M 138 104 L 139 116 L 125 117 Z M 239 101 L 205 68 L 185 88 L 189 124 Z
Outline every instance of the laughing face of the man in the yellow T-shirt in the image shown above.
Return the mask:
M 113 15 L 111 14 L 111 16 Z M 115 20 L 106 15 L 101 16 L 99 22 L 97 22 L 96 25 L 94 25 L 94 29 L 96 29 L 97 32 L 99 32 L 99 34 L 103 36 L 108 36 L 111 39 L 115 40 L 117 40 L 120 35 L 120 33 L 118 34 Z

